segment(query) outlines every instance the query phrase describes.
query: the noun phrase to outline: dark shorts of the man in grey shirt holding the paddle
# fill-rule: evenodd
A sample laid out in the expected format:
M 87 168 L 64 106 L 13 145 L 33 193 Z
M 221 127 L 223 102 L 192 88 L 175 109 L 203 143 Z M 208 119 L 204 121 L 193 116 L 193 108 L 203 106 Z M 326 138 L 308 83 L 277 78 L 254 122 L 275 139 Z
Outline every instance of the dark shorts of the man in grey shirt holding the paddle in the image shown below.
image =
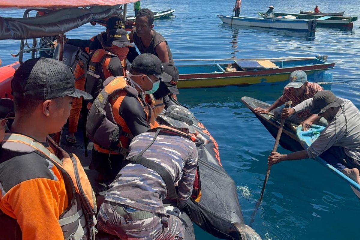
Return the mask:
M 324 151 L 320 157 L 339 171 L 342 171 L 345 168 L 357 168 L 360 170 L 359 161 L 346 155 L 343 147 L 332 146 Z

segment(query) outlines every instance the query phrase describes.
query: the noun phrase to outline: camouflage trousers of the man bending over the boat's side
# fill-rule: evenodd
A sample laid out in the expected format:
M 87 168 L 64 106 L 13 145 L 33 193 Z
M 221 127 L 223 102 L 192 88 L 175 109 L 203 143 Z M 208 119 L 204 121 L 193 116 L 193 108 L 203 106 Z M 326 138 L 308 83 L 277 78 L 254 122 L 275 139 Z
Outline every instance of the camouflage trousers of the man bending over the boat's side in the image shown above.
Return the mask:
M 120 205 L 121 206 L 121 205 Z M 154 214 L 142 220 L 129 220 L 121 216 L 118 205 L 105 201 L 98 214 L 98 228 L 122 240 L 172 240 L 184 238 L 184 226 L 181 220 L 172 215 Z M 167 224 L 164 224 L 167 222 Z

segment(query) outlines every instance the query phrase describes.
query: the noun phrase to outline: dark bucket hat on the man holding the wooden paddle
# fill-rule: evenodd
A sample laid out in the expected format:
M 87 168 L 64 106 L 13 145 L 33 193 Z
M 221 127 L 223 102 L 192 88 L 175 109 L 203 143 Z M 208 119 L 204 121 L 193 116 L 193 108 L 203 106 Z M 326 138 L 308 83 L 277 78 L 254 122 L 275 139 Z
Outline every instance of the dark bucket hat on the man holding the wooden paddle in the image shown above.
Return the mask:
M 337 98 L 332 91 L 324 90 L 316 92 L 312 99 L 312 105 L 309 110 L 311 114 L 320 114 L 326 112 L 329 108 L 339 107 L 343 100 Z

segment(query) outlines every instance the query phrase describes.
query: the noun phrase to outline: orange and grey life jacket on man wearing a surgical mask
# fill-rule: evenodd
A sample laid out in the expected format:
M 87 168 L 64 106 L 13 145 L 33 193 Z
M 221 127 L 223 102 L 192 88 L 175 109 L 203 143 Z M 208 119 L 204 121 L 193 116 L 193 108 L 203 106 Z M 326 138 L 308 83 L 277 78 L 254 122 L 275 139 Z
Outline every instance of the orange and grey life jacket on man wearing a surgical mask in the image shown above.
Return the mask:
M 133 138 L 125 120 L 119 114 L 121 103 L 127 93 L 138 99 L 144 109 L 150 128 L 159 126 L 151 107 L 141 100 L 138 91 L 127 84 L 124 77 L 108 78 L 104 89 L 89 110 L 86 135 L 94 142 L 94 149 L 101 153 L 127 153 Z

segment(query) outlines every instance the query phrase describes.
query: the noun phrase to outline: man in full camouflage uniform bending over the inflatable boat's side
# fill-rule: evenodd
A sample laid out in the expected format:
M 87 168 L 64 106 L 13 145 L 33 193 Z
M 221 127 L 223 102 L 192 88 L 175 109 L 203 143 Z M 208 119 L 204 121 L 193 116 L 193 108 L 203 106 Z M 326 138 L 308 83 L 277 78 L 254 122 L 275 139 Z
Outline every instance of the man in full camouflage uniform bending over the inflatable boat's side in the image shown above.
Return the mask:
M 180 107 L 172 113 L 185 120 L 192 115 Z M 184 226 L 176 217 L 180 209 L 165 207 L 163 200 L 185 207 L 193 191 L 198 152 L 188 136 L 193 127 L 169 119 L 176 128 L 161 125 L 132 139 L 129 163 L 110 185 L 99 210 L 98 226 L 105 232 L 123 240 L 184 238 Z

